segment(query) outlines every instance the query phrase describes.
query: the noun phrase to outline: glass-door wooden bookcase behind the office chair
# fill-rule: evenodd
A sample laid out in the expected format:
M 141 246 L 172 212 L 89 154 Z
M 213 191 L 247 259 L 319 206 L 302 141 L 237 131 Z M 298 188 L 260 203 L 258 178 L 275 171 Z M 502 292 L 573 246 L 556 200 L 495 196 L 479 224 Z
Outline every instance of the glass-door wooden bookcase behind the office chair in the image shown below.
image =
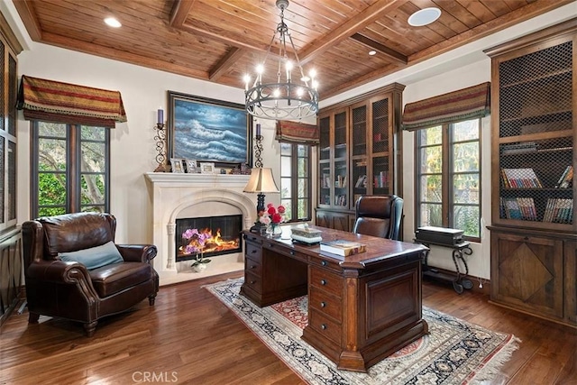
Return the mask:
M 395 83 L 319 114 L 316 225 L 351 231 L 358 197 L 401 194 L 395 156 L 404 88 Z

